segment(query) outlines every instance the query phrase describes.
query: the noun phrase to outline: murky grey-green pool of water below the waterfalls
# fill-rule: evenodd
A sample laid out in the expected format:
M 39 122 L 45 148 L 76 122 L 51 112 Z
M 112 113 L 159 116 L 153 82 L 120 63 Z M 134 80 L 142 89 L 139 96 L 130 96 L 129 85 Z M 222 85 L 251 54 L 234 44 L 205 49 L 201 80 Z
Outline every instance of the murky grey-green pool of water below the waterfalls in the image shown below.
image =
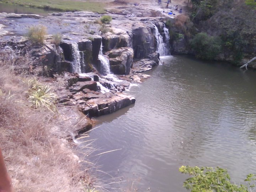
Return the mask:
M 104 187 L 186 191 L 182 165 L 220 166 L 237 184 L 256 173 L 255 71 L 185 56 L 162 60 L 128 91 L 135 105 L 97 118 L 90 133 L 98 149 L 91 161 L 107 173 L 98 177 L 125 181 Z

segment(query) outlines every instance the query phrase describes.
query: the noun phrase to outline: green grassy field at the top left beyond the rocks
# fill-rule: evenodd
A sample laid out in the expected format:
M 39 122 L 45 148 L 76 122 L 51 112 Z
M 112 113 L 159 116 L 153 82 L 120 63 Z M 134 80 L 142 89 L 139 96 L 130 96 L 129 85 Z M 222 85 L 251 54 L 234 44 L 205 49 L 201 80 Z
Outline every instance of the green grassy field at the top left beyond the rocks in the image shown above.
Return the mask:
M 105 2 L 72 0 L 0 0 L 2 3 L 36 7 L 56 11 L 92 11 L 105 13 Z

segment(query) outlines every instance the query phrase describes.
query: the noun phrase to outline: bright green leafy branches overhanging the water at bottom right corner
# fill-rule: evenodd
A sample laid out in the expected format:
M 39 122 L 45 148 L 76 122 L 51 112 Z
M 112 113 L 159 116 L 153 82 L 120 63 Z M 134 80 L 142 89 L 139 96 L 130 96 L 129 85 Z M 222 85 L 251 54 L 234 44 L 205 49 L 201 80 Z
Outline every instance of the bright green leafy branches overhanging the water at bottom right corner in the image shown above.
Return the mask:
M 248 187 L 250 191 L 255 187 L 251 185 L 251 181 L 256 180 L 254 174 L 247 175 L 248 185 L 235 185 L 230 183 L 228 171 L 219 167 L 181 166 L 179 171 L 192 176 L 183 182 L 183 187 L 192 192 L 249 192 Z

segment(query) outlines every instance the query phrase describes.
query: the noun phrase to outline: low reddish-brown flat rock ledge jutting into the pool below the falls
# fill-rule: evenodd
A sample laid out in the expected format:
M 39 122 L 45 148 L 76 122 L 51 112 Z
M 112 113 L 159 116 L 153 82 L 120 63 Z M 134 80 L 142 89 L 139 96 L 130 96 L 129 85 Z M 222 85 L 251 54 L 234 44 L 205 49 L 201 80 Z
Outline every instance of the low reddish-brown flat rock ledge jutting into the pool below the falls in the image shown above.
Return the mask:
M 79 75 L 65 73 L 56 79 L 58 84 L 64 85 L 57 90 L 58 105 L 77 106 L 79 111 L 88 117 L 98 117 L 113 113 L 120 108 L 135 103 L 133 96 L 118 92 L 118 90 L 125 90 L 124 87 L 128 89 L 129 82 L 122 82 L 122 85 L 114 85 L 110 92 L 102 93 L 97 82 L 92 81 L 90 77 L 80 77 Z M 101 82 L 101 84 L 109 85 L 107 82 Z M 116 89 L 120 86 L 123 86 L 123 88 Z

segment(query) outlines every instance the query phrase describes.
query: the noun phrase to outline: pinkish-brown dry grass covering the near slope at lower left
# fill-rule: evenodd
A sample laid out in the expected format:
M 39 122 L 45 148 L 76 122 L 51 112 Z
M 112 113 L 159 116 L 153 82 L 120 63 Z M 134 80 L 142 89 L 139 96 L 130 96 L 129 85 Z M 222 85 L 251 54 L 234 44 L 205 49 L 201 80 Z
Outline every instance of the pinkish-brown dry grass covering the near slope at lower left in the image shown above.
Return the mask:
M 83 191 L 83 172 L 70 143 L 61 139 L 58 118 L 30 107 L 26 78 L 12 68 L 15 59 L 0 56 L 0 143 L 15 190 Z

